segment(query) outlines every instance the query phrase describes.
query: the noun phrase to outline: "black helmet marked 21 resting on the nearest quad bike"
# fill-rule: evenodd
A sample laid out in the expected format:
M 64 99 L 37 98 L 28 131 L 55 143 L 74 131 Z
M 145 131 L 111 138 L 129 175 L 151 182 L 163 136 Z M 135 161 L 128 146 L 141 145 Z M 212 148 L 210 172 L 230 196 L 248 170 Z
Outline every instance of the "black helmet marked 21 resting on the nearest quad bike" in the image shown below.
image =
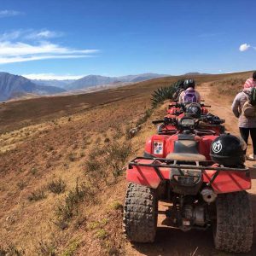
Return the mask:
M 243 150 L 246 143 L 236 136 L 224 134 L 217 137 L 211 145 L 211 158 L 224 166 L 242 166 L 245 158 Z

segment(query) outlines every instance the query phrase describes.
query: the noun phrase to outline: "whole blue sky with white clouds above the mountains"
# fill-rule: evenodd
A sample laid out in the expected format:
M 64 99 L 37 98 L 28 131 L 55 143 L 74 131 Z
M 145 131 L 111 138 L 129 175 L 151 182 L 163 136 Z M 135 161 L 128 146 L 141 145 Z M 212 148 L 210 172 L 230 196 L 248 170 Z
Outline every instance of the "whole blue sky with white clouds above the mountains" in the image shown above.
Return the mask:
M 255 69 L 254 0 L 0 3 L 1 71 L 62 79 Z

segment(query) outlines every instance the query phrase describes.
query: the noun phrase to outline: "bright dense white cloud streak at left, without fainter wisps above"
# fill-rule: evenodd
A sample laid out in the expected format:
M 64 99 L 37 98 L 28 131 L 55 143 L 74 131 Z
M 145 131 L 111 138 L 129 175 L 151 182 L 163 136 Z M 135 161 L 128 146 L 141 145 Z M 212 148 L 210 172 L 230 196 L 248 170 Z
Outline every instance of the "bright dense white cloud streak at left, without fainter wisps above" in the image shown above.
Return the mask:
M 87 58 L 96 52 L 98 52 L 97 49 L 72 49 L 49 42 L 32 45 L 6 41 L 0 42 L 0 64 L 47 59 Z

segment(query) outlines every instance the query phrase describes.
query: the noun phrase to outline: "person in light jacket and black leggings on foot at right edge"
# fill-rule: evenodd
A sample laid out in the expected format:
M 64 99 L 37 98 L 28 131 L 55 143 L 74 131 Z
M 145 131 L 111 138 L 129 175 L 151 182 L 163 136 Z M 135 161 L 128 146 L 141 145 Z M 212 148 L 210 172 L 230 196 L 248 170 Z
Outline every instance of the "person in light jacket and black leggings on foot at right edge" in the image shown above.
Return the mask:
M 238 118 L 238 126 L 241 137 L 247 143 L 249 134 L 251 135 L 253 142 L 253 154 L 248 156 L 248 160 L 256 160 L 256 115 L 253 114 L 249 116 L 245 112 L 245 106 L 250 100 L 253 88 L 256 87 L 256 72 L 253 73 L 253 79 L 247 79 L 247 82 L 244 84 L 244 89 L 239 92 L 232 104 L 232 111 L 235 116 Z M 254 106 L 253 106 L 254 107 Z M 244 151 L 246 154 L 246 150 Z

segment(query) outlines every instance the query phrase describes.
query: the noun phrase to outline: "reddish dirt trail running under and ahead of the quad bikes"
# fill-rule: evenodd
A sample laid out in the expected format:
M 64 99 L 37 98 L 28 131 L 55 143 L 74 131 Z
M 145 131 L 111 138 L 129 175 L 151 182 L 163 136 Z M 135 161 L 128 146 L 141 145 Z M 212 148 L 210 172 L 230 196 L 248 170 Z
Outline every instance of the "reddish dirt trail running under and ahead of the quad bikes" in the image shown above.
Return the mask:
M 218 115 L 220 118 L 225 119 L 225 127 L 227 131 L 232 134 L 239 134 L 237 128 L 237 119 L 234 117 L 230 104 L 224 103 L 220 100 L 213 100 L 210 94 L 211 88 L 209 83 L 201 84 L 198 88 L 201 93 L 202 99 L 205 100 L 206 105 L 211 105 L 210 113 Z M 251 153 L 252 148 L 249 146 L 248 152 Z M 253 162 L 247 161 L 247 166 L 253 166 Z M 253 223 L 256 224 L 256 175 L 252 173 L 252 189 L 249 190 L 253 206 Z M 160 211 L 164 211 L 167 207 L 166 203 L 160 202 Z M 138 244 L 130 247 L 128 250 L 129 255 L 161 255 L 161 256 L 230 256 L 233 253 L 219 252 L 214 249 L 212 230 L 207 231 L 191 230 L 183 232 L 174 228 L 169 228 L 161 225 L 164 219 L 163 215 L 159 216 L 158 230 L 156 241 L 154 244 Z M 254 229 L 255 230 L 255 229 Z M 242 253 L 236 255 L 256 255 L 256 236 L 253 237 L 253 247 L 250 253 Z

